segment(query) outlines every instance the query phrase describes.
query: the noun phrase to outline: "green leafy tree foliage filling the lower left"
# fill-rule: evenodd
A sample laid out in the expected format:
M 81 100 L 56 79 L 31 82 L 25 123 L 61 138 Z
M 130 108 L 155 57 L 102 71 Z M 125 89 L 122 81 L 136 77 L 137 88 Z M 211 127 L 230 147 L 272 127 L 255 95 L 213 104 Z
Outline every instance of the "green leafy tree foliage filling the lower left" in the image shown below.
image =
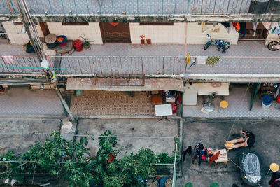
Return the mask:
M 156 163 L 172 162 L 167 153 L 159 157 L 148 148 L 140 148 L 138 153 L 130 153 L 118 160 L 116 135 L 106 130 L 98 140 L 99 150 L 93 157 L 87 148 L 87 137 L 81 137 L 77 142 L 66 141 L 54 131 L 43 145 L 31 144 L 23 155 L 15 156 L 13 152 L 0 155 L 0 161 L 22 161 L 1 162 L 0 179 L 16 178 L 25 183 L 21 174 L 36 172 L 63 178 L 68 186 L 91 186 L 93 183 L 109 187 L 135 186 L 155 175 Z

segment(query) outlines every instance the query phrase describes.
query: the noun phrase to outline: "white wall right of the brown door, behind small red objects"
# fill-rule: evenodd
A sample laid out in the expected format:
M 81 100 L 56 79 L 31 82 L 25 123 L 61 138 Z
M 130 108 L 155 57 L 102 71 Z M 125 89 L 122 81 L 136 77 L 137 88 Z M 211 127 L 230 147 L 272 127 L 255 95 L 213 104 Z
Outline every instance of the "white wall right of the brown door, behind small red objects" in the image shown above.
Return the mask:
M 132 44 L 140 44 L 140 36 L 152 39 L 152 44 L 174 43 L 185 44 L 186 23 L 174 23 L 174 25 L 140 25 L 130 23 L 130 36 Z

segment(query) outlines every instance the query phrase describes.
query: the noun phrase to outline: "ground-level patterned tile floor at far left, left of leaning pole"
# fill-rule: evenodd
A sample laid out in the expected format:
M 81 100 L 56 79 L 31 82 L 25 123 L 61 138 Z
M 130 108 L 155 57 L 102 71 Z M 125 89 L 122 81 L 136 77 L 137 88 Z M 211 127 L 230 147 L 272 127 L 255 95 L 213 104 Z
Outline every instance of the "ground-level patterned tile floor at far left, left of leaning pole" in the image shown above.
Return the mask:
M 6 89 L 0 93 L 0 115 L 62 116 L 64 109 L 52 90 Z

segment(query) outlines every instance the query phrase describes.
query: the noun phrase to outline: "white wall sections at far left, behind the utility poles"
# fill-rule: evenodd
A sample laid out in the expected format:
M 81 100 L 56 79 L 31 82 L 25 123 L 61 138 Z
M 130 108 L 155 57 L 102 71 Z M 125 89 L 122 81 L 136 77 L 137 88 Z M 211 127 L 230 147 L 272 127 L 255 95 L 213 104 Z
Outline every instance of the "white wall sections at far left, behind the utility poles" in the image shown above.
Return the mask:
M 23 25 L 14 25 L 13 22 L 2 22 L 2 25 L 6 32 L 20 33 Z M 40 25 L 36 25 L 37 32 L 40 37 L 43 37 L 43 32 Z M 11 44 L 26 44 L 29 41 L 29 37 L 26 34 L 8 34 Z

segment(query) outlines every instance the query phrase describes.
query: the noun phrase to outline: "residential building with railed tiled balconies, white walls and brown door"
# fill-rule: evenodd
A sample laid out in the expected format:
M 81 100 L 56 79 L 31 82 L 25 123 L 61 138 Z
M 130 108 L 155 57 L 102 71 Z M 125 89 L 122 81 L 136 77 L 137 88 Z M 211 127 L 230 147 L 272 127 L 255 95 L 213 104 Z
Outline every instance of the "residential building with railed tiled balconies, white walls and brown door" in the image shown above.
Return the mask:
M 20 77 L 28 78 L 31 88 L 43 84 L 45 89 L 49 87 L 45 78 L 55 79 L 65 91 L 147 92 L 151 96 L 148 92 L 176 90 L 183 92 L 181 102 L 188 111 L 188 105 L 197 105 L 197 95 L 215 91 L 230 95 L 230 83 L 280 80 L 279 52 L 267 48 L 270 41 L 279 39 L 280 1 L 17 1 L 0 2 L 3 87 Z M 43 41 L 49 69 L 41 69 L 41 60 L 22 46 L 34 35 L 22 32 L 30 22 L 22 25 L 25 18 L 18 15 L 18 6 L 31 15 L 42 41 L 48 34 L 64 35 L 71 42 L 85 37 L 92 46 L 61 56 Z M 228 27 L 232 22 L 242 25 L 241 34 L 237 27 Z M 210 40 L 207 34 L 214 41 L 230 42 L 230 48 L 226 53 L 214 45 L 204 50 Z M 207 57 L 218 60 L 208 63 Z

